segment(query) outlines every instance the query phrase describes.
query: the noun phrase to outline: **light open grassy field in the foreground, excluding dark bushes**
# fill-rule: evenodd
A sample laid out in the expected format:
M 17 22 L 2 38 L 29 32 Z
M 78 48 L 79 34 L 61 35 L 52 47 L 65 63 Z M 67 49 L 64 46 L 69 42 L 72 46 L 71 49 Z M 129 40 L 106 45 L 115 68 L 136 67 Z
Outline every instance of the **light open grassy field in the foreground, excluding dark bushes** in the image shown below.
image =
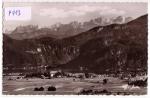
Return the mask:
M 112 94 L 126 92 L 126 94 L 143 95 L 147 93 L 145 87 L 128 87 L 123 80 L 107 77 L 108 83 L 103 85 L 100 78 L 75 79 L 74 78 L 54 78 L 54 79 L 3 79 L 3 94 L 10 95 L 68 95 L 79 94 L 83 89 L 104 90 Z M 35 87 L 44 87 L 44 91 L 34 91 Z M 55 86 L 56 91 L 47 91 L 49 86 Z

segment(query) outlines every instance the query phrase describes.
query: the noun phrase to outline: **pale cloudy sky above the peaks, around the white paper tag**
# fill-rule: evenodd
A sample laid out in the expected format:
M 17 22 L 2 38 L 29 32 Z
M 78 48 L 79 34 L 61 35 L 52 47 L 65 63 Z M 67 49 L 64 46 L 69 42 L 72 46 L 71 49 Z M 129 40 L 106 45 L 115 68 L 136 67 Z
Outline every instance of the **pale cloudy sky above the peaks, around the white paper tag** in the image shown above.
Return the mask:
M 17 26 L 38 25 L 50 27 L 56 23 L 72 21 L 84 22 L 97 17 L 126 16 L 137 18 L 147 14 L 147 3 L 4 3 L 6 7 L 31 7 L 31 19 L 28 21 L 6 21 L 4 30 L 14 30 Z

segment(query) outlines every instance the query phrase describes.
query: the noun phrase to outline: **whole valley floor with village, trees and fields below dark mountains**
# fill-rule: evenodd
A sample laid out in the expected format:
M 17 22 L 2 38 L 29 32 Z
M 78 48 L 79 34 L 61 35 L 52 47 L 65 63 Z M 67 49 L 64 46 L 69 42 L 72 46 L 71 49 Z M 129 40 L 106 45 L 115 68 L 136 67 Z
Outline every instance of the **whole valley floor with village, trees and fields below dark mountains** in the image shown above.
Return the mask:
M 62 70 L 3 74 L 4 94 L 146 94 L 147 76 L 140 73 L 95 74 Z M 19 88 L 18 88 L 19 87 Z M 142 91 L 142 92 L 141 92 Z

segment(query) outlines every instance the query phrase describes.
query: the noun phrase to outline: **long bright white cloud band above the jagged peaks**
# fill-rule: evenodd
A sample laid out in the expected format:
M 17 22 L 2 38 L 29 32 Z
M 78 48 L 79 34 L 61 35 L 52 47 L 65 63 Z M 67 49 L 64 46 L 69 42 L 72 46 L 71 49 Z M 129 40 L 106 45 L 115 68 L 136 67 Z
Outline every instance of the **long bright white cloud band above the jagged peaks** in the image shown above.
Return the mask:
M 69 8 L 44 8 L 40 10 L 40 16 L 48 16 L 51 18 L 68 18 L 71 16 L 83 16 L 90 13 L 97 13 L 99 15 L 123 15 L 125 14 L 122 10 L 113 9 L 107 6 L 73 6 Z

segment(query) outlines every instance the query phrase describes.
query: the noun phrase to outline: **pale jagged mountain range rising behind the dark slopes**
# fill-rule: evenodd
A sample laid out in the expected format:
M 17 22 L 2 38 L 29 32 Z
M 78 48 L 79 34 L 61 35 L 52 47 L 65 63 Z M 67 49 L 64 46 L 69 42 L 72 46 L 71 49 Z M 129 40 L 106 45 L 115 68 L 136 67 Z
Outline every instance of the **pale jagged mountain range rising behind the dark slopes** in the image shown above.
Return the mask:
M 50 27 L 39 28 L 38 25 L 18 26 L 8 36 L 13 39 L 23 40 L 30 38 L 54 37 L 64 38 L 77 35 L 81 32 L 88 31 L 96 26 L 104 26 L 112 23 L 127 23 L 132 20 L 132 17 L 98 17 L 85 22 L 72 21 L 68 24 L 56 23 Z

